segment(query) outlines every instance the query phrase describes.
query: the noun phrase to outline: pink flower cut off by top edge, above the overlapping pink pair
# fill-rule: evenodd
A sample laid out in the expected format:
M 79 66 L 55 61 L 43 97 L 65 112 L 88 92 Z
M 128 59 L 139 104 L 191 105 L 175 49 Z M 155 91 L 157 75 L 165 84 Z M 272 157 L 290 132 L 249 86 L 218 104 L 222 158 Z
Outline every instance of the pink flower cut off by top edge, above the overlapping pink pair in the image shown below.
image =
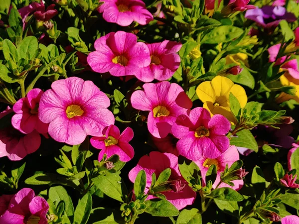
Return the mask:
M 141 25 L 153 20 L 152 14 L 147 10 L 142 0 L 102 0 L 98 11 L 103 12 L 103 18 L 107 22 L 117 23 L 120 26 L 128 26 L 133 21 Z

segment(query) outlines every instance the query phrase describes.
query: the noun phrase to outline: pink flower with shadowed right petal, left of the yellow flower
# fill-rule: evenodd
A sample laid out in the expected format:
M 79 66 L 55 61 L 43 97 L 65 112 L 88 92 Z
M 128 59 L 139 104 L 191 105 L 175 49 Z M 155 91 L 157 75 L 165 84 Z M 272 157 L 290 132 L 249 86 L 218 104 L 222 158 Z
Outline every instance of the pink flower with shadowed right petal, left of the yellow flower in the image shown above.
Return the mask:
M 135 91 L 131 97 L 132 107 L 149 111 L 148 129 L 156 138 L 164 138 L 171 133 L 171 126 L 180 114 L 187 114 L 192 102 L 177 84 L 167 81 L 147 83 L 143 90 Z

